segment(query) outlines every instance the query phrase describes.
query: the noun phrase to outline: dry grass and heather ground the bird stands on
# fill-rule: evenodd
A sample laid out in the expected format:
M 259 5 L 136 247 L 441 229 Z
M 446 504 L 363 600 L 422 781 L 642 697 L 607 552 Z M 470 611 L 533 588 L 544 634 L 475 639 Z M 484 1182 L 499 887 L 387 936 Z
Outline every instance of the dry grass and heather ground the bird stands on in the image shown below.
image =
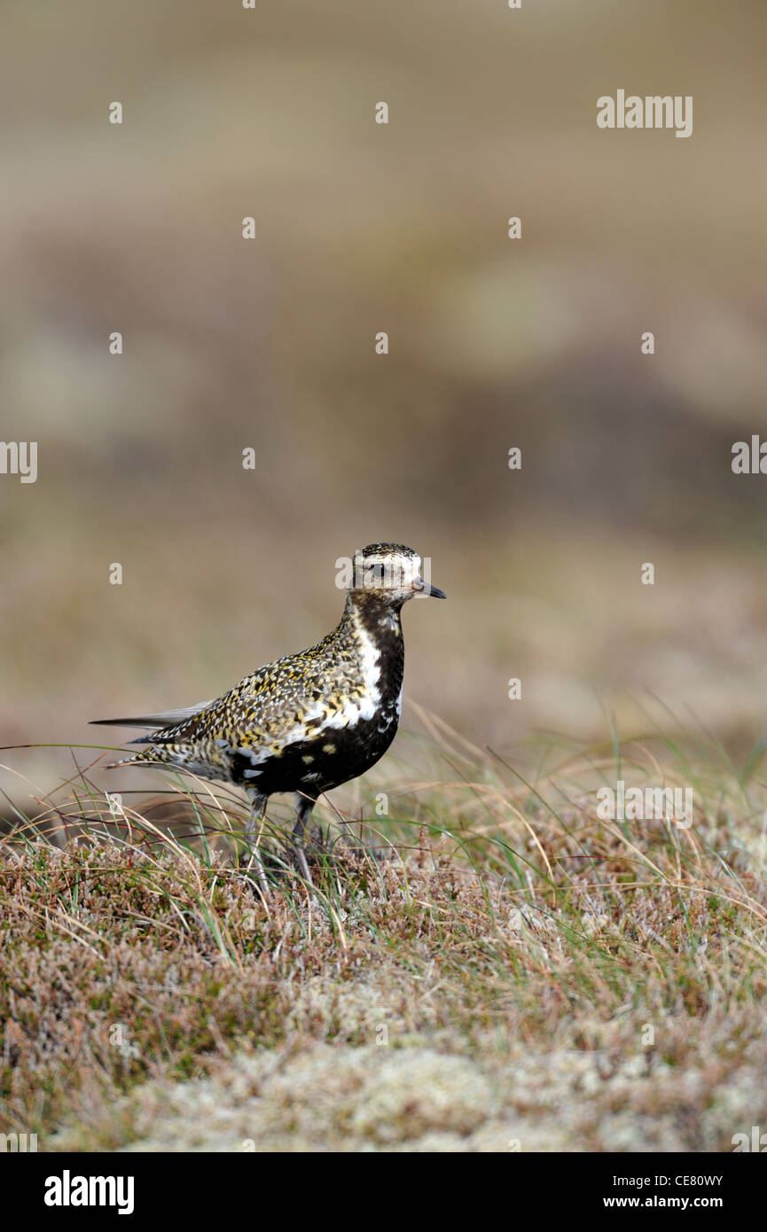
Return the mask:
M 424 721 L 365 823 L 326 807 L 313 887 L 269 837 L 268 898 L 224 788 L 179 779 L 115 813 L 78 769 L 16 806 L 0 1130 L 49 1151 L 726 1151 L 767 1125 L 762 749 L 539 738 L 512 761 Z M 601 819 L 618 777 L 692 787 L 693 824 Z

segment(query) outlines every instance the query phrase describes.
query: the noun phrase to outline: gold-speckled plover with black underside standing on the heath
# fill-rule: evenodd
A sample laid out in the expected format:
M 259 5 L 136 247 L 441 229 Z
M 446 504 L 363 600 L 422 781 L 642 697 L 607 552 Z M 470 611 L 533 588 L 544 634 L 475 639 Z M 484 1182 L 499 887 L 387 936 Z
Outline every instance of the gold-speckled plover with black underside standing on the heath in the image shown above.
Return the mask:
M 307 650 L 268 663 L 228 692 L 181 710 L 95 724 L 149 728 L 147 748 L 110 764 L 178 766 L 244 788 L 245 835 L 266 891 L 259 853 L 269 797 L 292 792 L 296 861 L 311 876 L 306 825 L 317 800 L 356 779 L 386 753 L 402 713 L 402 607 L 416 595 L 445 599 L 422 577 L 423 559 L 402 543 L 370 543 L 337 562 L 342 617 Z

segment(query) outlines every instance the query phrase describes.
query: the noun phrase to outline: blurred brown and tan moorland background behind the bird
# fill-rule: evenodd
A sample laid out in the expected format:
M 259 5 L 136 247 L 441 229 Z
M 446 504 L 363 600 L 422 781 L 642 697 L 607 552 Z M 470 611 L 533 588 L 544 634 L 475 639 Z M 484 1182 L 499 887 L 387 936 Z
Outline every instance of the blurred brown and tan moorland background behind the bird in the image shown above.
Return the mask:
M 477 744 L 651 696 L 758 738 L 766 37 L 760 0 L 4 0 L 0 435 L 38 478 L 0 476 L 0 743 L 310 644 L 371 540 L 432 558 L 406 696 Z M 693 95 L 692 138 L 598 129 L 618 89 Z

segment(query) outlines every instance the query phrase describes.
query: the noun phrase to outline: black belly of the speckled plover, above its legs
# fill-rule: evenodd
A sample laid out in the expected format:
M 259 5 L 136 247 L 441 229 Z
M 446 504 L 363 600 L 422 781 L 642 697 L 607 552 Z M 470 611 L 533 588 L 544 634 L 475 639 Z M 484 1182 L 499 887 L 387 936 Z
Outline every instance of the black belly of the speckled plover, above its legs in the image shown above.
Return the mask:
M 381 727 L 384 731 L 380 731 Z M 396 734 L 397 716 L 392 715 L 385 723 L 379 713 L 354 726 L 329 727 L 316 737 L 296 740 L 256 765 L 237 754 L 231 769 L 232 779 L 240 786 L 255 787 L 264 796 L 300 791 L 316 797 L 365 774 L 384 756 Z M 259 772 L 245 775 L 247 770 Z

